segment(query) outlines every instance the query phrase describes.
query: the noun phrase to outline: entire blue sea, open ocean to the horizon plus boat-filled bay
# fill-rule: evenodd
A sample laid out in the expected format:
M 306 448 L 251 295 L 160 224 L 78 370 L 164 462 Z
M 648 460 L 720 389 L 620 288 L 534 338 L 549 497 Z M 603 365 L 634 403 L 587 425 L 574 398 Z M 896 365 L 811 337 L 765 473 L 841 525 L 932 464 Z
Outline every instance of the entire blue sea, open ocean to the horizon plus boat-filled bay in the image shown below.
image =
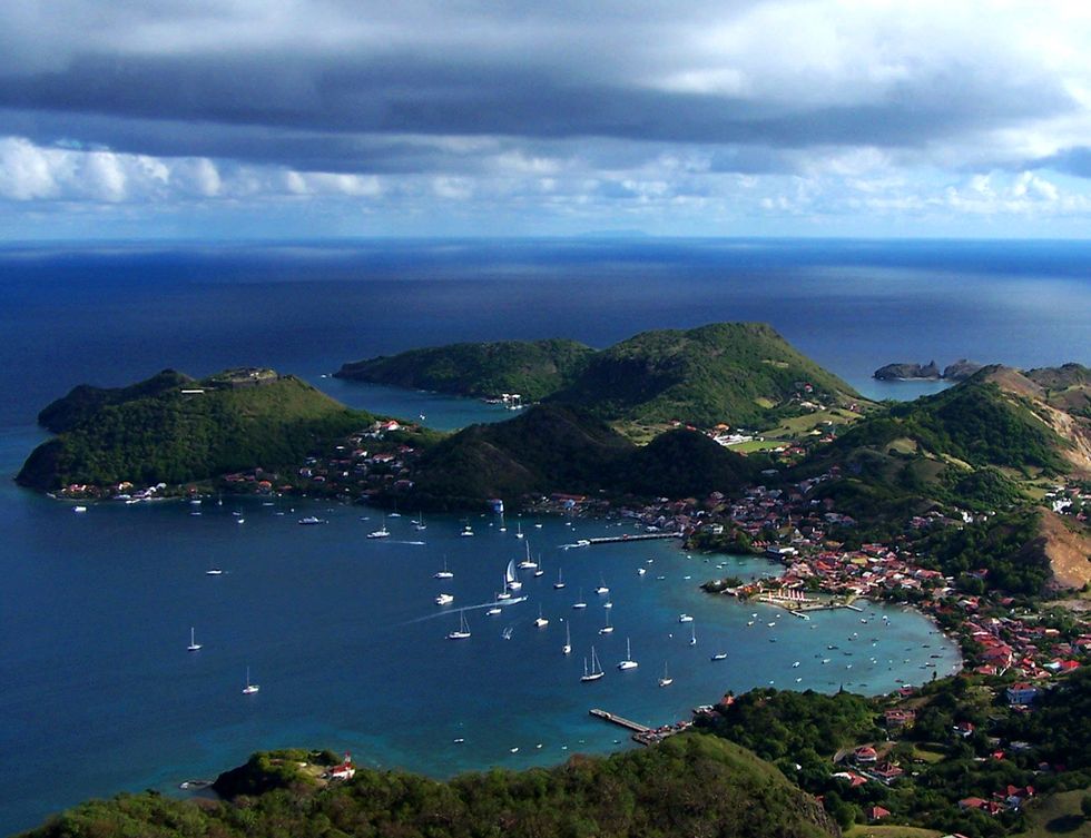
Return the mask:
M 322 377 L 344 361 L 452 341 L 606 346 L 646 328 L 765 321 L 866 395 L 914 397 L 942 385 L 881 384 L 871 372 L 960 357 L 1091 363 L 1089 269 L 1091 246 L 1040 241 L 8 246 L 0 471 L 18 470 L 45 438 L 38 410 L 75 384 L 120 385 L 165 367 L 269 365 L 436 427 L 502 420 L 478 402 Z M 433 776 L 518 768 L 628 747 L 590 707 L 659 723 L 727 689 L 876 692 L 923 680 L 928 661 L 941 671 L 956 662 L 917 614 L 807 622 L 712 600 L 697 590 L 705 579 L 775 568 L 666 543 L 563 550 L 617 531 L 564 520 L 522 522 L 547 571 L 527 579 L 529 601 L 500 617 L 470 610 L 472 638 L 449 641 L 454 609 L 490 599 L 521 554 L 513 522 L 501 533 L 499 521 L 474 520 L 478 534 L 462 539 L 456 519 L 419 533 L 406 514 L 389 521 L 390 540 L 368 541 L 377 513 L 360 507 L 206 501 L 193 511 L 105 504 L 78 515 L 0 483 L 0 834 L 90 796 L 215 776 L 261 748 L 348 749 L 363 763 Z M 311 513 L 330 523 L 296 523 Z M 455 578 L 440 583 L 444 556 Z M 225 573 L 206 575 L 214 565 Z M 567 586 L 556 591 L 559 571 Z M 600 580 L 615 604 L 609 637 L 598 633 Z M 580 588 L 589 605 L 576 611 Z M 441 590 L 454 605 L 433 603 Z M 533 625 L 539 607 L 544 629 Z M 681 612 L 695 615 L 696 645 Z M 186 651 L 190 625 L 199 652 Z M 640 667 L 622 673 L 626 638 Z M 581 684 L 592 643 L 607 677 Z M 728 659 L 710 661 L 717 651 Z M 675 682 L 660 689 L 665 663 Z M 247 667 L 256 696 L 240 693 Z M 45 779 L 58 765 L 61 781 Z

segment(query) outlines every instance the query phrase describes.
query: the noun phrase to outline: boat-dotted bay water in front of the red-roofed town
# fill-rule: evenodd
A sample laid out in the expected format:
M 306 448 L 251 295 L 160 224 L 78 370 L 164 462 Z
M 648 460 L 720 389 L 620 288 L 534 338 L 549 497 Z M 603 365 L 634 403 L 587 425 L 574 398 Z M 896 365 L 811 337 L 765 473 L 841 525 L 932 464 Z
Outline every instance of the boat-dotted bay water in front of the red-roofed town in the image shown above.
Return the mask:
M 430 517 L 417 532 L 406 514 L 387 519 L 390 540 L 368 540 L 381 515 L 356 506 L 208 500 L 200 515 L 180 502 L 76 514 L 10 486 L 0 500 L 9 543 L 20 545 L 4 562 L 2 592 L 0 731 L 4 751 L 19 755 L 0 767 L 6 829 L 88 796 L 170 791 L 262 748 L 351 750 L 364 765 L 441 777 L 520 768 L 629 747 L 623 731 L 588 717 L 591 707 L 658 724 L 728 689 L 877 692 L 898 678 L 923 680 L 931 653 L 943 655 L 933 661 L 941 673 L 957 660 L 915 613 L 876 608 L 875 617 L 803 621 L 697 589 L 724 573 L 775 572 L 761 560 L 688 556 L 674 542 L 561 548 L 631 525 L 521 522 L 546 572 L 521 572 L 528 601 L 488 617 L 478 607 L 524 550 L 517 522 L 501 533 L 498 520 L 474 519 L 476 535 L 461 538 L 458 519 Z M 328 523 L 298 525 L 308 513 Z M 455 576 L 441 582 L 432 574 L 444 560 Z M 224 574 L 207 575 L 212 566 Z M 559 572 L 563 590 L 553 588 Z M 593 589 L 602 580 L 613 603 L 609 637 L 598 633 L 607 598 Z M 582 611 L 571 608 L 580 589 Z M 453 605 L 434 604 L 441 591 Z M 533 624 L 539 607 L 544 629 Z M 469 609 L 469 640 L 445 637 L 458 608 Z M 678 622 L 682 612 L 691 624 Z M 204 647 L 193 653 L 190 625 Z M 640 667 L 620 672 L 627 638 Z M 591 644 L 607 676 L 583 684 Z M 727 660 L 712 662 L 720 651 Z M 675 682 L 662 689 L 665 662 Z M 247 667 L 256 696 L 240 692 Z M 42 783 L 57 759 L 66 782 Z

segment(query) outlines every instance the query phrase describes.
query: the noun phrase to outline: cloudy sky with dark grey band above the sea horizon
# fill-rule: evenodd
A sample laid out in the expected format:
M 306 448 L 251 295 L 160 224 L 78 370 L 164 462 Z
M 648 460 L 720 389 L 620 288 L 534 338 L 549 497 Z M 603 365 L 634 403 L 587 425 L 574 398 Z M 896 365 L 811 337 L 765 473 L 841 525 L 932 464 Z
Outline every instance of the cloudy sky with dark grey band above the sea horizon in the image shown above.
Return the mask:
M 0 240 L 1089 233 L 1084 0 L 0 3 Z

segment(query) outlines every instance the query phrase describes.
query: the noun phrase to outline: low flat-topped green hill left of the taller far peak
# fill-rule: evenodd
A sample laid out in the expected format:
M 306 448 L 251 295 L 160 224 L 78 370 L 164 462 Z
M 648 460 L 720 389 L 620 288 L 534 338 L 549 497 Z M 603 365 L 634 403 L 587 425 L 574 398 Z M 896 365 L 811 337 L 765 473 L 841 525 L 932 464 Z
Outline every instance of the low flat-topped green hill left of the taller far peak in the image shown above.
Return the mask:
M 538 400 L 567 386 L 594 349 L 574 341 L 502 341 L 411 349 L 345 364 L 338 378 L 462 396 Z

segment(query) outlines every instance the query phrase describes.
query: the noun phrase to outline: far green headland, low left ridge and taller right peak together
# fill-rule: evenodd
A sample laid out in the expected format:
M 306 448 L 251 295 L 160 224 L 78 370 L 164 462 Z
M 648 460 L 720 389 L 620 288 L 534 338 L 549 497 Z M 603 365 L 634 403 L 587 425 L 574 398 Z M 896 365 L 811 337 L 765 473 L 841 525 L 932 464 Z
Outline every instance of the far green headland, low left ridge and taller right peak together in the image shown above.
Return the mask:
M 456 395 L 518 392 L 626 430 L 671 421 L 767 427 L 859 395 L 763 323 L 642 332 L 594 352 L 564 341 L 454 344 L 345 364 L 344 378 Z

